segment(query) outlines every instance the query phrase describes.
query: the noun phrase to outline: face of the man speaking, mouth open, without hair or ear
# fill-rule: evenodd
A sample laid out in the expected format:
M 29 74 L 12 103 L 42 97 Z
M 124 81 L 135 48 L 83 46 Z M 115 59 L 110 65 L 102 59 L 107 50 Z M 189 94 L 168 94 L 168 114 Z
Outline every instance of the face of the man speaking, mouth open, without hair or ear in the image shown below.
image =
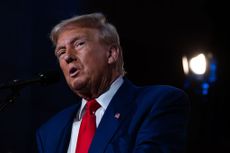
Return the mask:
M 111 75 L 109 50 L 95 29 L 72 28 L 59 35 L 55 54 L 68 85 L 79 96 L 93 94 Z

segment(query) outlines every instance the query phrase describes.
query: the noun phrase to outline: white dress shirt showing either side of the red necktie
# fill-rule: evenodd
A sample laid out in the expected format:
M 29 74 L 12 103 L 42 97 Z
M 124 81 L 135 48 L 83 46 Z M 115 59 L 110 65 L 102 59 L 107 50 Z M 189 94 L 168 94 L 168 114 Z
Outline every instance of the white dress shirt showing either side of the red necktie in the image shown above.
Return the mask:
M 103 93 L 101 96 L 96 98 L 96 101 L 101 105 L 101 107 L 99 109 L 97 109 L 97 111 L 95 112 L 96 126 L 97 127 L 98 127 L 98 125 L 102 119 L 102 116 L 104 115 L 104 112 L 105 112 L 106 108 L 108 107 L 111 99 L 113 98 L 113 96 L 115 95 L 115 93 L 120 88 L 120 86 L 122 85 L 123 82 L 124 82 L 124 80 L 123 80 L 122 76 L 118 77 L 112 83 L 110 88 L 105 93 Z M 70 143 L 69 143 L 69 148 L 68 148 L 67 153 L 75 153 L 77 138 L 78 138 L 78 132 L 79 132 L 82 116 L 83 116 L 84 110 L 85 110 L 85 104 L 86 104 L 86 100 L 82 99 L 81 108 L 78 111 L 76 118 L 74 119 L 74 122 L 72 125 L 71 138 L 70 138 Z

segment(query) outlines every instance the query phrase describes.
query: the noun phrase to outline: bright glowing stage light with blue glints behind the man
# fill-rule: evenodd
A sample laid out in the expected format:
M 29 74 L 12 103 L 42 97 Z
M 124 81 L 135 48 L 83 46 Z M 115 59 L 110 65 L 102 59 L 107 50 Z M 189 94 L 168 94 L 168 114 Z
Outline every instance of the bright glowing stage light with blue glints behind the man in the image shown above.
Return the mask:
M 208 94 L 211 84 L 216 81 L 216 60 L 211 53 L 198 53 L 182 57 L 183 71 L 186 76 L 185 88 L 194 88 L 203 95 Z

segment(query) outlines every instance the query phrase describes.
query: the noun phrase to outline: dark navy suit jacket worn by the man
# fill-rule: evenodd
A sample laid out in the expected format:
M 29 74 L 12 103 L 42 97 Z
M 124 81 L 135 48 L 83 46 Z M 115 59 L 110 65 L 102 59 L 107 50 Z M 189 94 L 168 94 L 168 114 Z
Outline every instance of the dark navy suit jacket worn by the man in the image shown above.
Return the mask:
M 40 153 L 67 152 L 80 103 L 37 130 Z M 188 112 L 182 90 L 165 85 L 137 87 L 125 79 L 104 113 L 89 153 L 185 152 Z

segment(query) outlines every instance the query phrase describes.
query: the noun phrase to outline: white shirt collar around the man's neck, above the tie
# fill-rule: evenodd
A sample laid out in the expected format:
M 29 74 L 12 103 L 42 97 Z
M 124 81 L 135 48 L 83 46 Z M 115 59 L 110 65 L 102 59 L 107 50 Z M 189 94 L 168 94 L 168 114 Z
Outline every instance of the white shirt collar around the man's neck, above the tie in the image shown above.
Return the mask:
M 117 90 L 120 88 L 122 83 L 124 82 L 124 79 L 122 76 L 119 76 L 109 87 L 109 89 L 104 92 L 102 95 L 100 95 L 98 98 L 96 98 L 96 101 L 101 105 L 101 107 L 106 110 L 108 107 L 110 101 L 112 100 L 113 96 L 117 92 Z M 77 114 L 77 118 L 80 120 L 82 117 L 82 114 L 84 112 L 85 104 L 87 100 L 82 99 L 81 108 Z

